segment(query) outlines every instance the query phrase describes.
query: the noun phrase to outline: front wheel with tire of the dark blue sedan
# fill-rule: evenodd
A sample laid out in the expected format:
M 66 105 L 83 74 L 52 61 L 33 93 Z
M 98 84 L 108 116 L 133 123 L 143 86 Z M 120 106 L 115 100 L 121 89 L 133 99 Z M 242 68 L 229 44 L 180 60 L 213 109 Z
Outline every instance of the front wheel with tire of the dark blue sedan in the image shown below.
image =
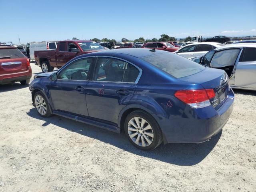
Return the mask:
M 36 110 L 40 116 L 50 117 L 52 115 L 50 105 L 41 92 L 36 92 L 34 95 L 34 106 L 36 107 Z

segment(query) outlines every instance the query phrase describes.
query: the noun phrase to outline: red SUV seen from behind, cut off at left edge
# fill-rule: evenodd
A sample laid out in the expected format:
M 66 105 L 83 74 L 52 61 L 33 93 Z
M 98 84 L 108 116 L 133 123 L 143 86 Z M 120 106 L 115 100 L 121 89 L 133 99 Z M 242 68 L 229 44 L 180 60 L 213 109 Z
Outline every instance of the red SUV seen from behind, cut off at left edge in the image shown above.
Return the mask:
M 16 47 L 0 46 L 0 84 L 29 83 L 32 76 L 29 59 Z

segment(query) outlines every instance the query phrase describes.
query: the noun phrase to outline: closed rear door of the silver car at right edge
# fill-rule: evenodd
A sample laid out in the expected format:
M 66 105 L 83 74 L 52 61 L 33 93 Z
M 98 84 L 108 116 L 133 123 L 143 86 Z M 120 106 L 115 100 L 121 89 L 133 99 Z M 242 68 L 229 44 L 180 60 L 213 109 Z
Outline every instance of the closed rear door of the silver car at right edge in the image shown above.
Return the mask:
M 244 48 L 234 77 L 235 86 L 256 88 L 256 48 Z

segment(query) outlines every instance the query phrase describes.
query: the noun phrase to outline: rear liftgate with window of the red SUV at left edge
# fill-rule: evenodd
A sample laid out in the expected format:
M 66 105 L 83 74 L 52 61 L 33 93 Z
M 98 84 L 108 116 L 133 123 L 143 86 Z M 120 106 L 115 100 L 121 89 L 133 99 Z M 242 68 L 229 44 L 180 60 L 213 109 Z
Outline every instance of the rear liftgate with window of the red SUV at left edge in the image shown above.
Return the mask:
M 0 75 L 25 72 L 27 58 L 17 48 L 0 48 Z

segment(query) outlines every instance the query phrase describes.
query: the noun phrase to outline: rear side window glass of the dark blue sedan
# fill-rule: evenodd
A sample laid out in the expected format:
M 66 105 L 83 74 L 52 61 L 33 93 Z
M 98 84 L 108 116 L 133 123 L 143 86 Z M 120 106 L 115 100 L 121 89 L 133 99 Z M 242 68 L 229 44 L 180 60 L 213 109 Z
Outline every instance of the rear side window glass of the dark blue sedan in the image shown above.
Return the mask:
M 94 80 L 134 83 L 138 74 L 139 70 L 130 63 L 114 58 L 98 58 Z

